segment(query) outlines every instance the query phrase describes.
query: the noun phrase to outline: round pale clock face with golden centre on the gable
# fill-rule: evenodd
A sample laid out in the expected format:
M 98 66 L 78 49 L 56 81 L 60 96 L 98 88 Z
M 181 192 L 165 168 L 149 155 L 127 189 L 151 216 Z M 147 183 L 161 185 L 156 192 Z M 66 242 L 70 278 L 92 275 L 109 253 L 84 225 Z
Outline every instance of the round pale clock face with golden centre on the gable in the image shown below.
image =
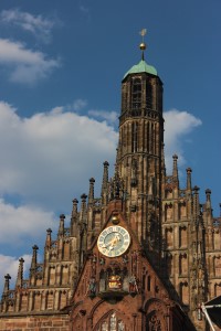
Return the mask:
M 122 226 L 105 228 L 97 241 L 99 252 L 108 257 L 120 256 L 130 244 L 129 233 Z

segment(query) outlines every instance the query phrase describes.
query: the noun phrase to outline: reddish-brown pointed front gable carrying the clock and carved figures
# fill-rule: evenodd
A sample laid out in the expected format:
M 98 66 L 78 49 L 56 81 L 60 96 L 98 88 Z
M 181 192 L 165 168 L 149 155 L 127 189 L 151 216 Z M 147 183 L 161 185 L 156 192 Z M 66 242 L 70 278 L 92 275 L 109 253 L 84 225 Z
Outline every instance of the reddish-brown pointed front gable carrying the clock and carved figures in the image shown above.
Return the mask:
M 73 296 L 73 327 L 129 331 L 145 314 L 147 330 L 166 331 L 168 309 L 173 303 L 135 233 L 120 213 L 112 213 L 86 256 Z

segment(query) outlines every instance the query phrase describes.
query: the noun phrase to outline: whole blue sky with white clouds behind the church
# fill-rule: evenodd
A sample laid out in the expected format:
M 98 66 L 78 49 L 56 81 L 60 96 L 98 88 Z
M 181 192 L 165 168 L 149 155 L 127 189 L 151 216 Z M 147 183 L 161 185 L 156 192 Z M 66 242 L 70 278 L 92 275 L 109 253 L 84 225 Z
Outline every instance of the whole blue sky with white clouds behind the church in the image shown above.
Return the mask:
M 0 291 L 42 259 L 46 228 L 69 226 L 72 200 L 99 195 L 115 163 L 124 74 L 140 61 L 164 82 L 167 172 L 212 191 L 220 215 L 220 0 L 0 0 Z

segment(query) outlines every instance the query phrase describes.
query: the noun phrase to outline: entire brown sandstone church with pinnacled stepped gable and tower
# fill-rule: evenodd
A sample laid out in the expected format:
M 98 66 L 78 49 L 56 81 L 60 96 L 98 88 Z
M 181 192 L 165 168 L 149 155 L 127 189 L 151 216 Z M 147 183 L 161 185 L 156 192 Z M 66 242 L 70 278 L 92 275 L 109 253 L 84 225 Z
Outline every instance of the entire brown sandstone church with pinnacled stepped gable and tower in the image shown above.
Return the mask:
M 14 289 L 4 276 L 0 330 L 208 330 L 200 305 L 221 295 L 221 218 L 211 191 L 199 201 L 190 168 L 179 185 L 164 157 L 162 82 L 144 60 L 122 82 L 115 173 L 104 162 L 101 196 L 73 200 L 57 236 L 46 229 L 44 258 L 33 246 Z

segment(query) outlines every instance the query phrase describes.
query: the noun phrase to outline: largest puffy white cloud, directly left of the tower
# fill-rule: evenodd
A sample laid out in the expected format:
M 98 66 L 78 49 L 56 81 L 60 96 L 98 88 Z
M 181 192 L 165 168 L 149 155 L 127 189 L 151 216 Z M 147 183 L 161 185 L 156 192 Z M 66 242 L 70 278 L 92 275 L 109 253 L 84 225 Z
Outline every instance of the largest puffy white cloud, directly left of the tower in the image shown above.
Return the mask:
M 106 122 L 63 107 L 21 118 L 6 103 L 0 118 L 1 194 L 60 211 L 101 179 L 103 161 L 114 163 L 118 135 Z

